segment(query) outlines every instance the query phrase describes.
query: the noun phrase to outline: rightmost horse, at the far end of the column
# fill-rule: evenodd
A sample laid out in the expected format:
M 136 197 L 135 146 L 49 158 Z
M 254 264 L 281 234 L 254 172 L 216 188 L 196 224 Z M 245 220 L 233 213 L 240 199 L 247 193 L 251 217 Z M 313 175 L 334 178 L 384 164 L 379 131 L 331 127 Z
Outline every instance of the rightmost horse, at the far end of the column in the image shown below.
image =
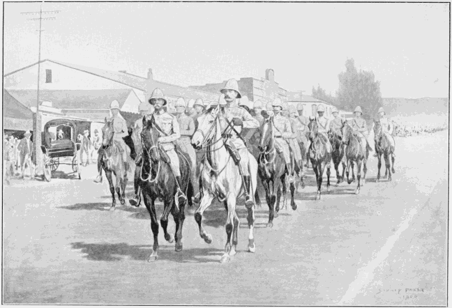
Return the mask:
M 380 168 L 382 167 L 382 155 L 384 155 L 384 162 L 386 165 L 386 171 L 384 171 L 384 177 L 388 176 L 388 180 L 392 180 L 391 176 L 391 160 L 392 160 L 392 173 L 395 174 L 396 170 L 394 170 L 394 160 L 396 157 L 393 156 L 394 148 L 391 146 L 391 143 L 388 140 L 386 134 L 383 133 L 382 124 L 379 121 L 374 121 L 374 134 L 375 134 L 375 152 L 377 152 L 378 157 L 378 174 L 377 174 L 377 182 L 380 178 Z

